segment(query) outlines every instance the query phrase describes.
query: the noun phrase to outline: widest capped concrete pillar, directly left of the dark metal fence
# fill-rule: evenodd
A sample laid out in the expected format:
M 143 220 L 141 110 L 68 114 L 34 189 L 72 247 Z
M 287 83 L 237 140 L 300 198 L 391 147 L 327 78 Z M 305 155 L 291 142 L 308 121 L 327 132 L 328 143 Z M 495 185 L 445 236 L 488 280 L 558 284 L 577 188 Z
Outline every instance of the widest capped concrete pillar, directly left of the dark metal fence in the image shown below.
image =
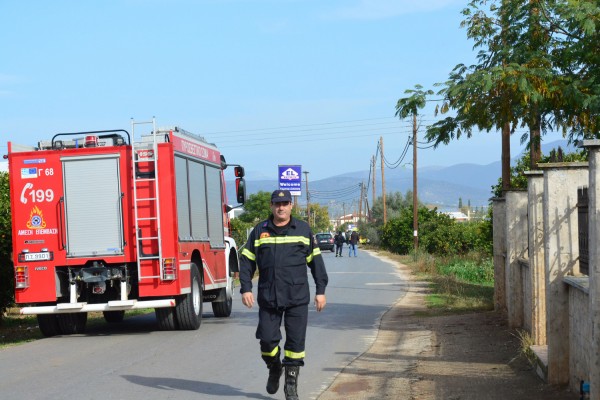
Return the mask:
M 587 163 L 540 164 L 544 171 L 544 253 L 548 383 L 569 382 L 569 289 L 579 272 L 577 188 L 588 184 Z

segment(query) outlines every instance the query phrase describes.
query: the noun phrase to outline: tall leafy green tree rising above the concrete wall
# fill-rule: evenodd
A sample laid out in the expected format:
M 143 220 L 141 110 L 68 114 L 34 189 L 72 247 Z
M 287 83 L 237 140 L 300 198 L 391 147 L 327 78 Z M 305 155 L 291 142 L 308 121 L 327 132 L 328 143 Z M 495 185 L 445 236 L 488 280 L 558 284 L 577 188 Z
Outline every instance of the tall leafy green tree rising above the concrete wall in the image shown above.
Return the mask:
M 576 2 L 575 2 L 576 3 Z M 564 95 L 564 79 L 556 68 L 556 35 L 548 16 L 557 13 L 562 0 L 473 0 L 463 11 L 467 36 L 479 48 L 478 64 L 459 64 L 440 94 L 441 111 L 448 117 L 428 129 L 426 138 L 437 146 L 473 129 L 502 131 L 503 189 L 510 186 L 509 129 L 526 126 L 531 168 L 541 157 L 541 135 L 554 126 L 572 123 L 571 103 Z M 557 111 L 558 110 L 558 111 Z M 560 118 L 557 118 L 557 115 Z

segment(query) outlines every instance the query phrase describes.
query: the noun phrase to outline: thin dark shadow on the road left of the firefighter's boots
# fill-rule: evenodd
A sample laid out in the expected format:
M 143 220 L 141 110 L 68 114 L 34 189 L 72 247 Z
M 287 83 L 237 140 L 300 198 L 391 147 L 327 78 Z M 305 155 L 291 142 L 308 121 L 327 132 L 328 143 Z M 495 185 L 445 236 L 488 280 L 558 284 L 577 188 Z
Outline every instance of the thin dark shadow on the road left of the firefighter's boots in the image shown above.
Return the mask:
M 266 397 L 260 393 L 246 393 L 241 389 L 222 385 L 220 383 L 191 381 L 188 379 L 165 378 L 165 377 L 149 377 L 138 375 L 122 375 L 123 378 L 136 385 L 147 386 L 158 390 L 186 390 L 188 392 L 200 393 L 214 396 L 240 396 L 250 399 L 270 400 L 271 397 Z M 159 398 L 157 395 L 156 398 Z

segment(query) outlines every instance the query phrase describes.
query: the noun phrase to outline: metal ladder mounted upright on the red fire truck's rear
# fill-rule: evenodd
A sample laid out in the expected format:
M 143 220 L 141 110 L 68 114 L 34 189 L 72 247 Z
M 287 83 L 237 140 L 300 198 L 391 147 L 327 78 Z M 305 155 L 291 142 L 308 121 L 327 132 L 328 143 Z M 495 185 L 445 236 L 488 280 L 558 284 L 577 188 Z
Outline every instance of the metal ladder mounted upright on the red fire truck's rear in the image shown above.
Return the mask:
M 135 127 L 137 125 L 152 125 L 152 140 L 139 140 L 136 142 Z M 138 279 L 155 279 L 163 275 L 162 265 L 162 243 L 160 239 L 160 202 L 158 185 L 158 143 L 156 141 L 156 122 L 152 121 L 134 122 L 131 120 L 131 141 L 133 146 L 132 168 L 133 168 L 133 204 L 135 232 L 137 236 L 137 268 Z M 145 171 L 142 172 L 140 165 L 144 164 Z M 154 194 L 140 197 L 140 191 L 146 186 L 144 193 L 151 193 L 150 185 L 154 184 Z M 140 206 L 149 207 L 140 207 Z M 141 209 L 144 215 L 141 215 Z M 152 229 L 152 226 L 155 229 Z M 156 249 L 153 253 L 145 253 L 144 248 Z M 158 275 L 142 275 L 142 264 L 158 264 Z M 155 270 L 153 268 L 153 270 Z

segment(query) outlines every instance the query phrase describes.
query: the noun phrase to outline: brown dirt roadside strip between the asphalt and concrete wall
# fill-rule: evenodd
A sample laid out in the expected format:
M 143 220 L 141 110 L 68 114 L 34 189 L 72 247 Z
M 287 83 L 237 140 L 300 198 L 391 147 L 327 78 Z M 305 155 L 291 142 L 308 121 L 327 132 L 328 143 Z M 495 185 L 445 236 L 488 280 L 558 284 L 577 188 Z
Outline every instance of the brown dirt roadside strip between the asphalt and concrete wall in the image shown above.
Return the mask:
M 383 316 L 371 348 L 319 400 L 579 399 L 536 375 L 499 313 L 419 317 L 427 284 L 397 265 L 406 296 Z

